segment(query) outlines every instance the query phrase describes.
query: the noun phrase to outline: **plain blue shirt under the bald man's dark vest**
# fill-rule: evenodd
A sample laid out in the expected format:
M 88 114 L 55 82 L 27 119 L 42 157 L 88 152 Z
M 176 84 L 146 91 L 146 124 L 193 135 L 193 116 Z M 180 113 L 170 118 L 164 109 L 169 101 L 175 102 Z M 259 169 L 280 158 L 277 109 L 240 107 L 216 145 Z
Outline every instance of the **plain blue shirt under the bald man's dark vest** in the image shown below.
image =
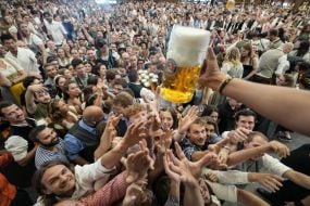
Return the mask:
M 78 121 L 78 126 L 86 131 L 94 133 L 94 136 L 97 134 L 96 128 L 89 127 L 83 119 Z M 64 147 L 67 152 L 67 157 L 70 160 L 75 159 L 78 156 L 78 153 L 84 150 L 83 143 L 71 133 L 66 133 L 64 137 Z

